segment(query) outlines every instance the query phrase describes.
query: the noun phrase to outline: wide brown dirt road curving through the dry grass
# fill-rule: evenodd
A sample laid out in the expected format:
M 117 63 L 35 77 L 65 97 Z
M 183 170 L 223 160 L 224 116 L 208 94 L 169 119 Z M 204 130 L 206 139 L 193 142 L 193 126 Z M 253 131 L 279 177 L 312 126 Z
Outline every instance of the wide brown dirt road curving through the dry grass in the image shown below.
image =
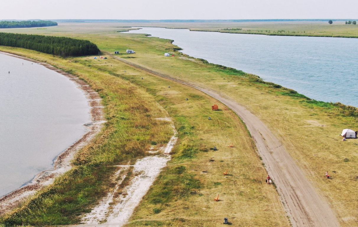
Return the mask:
M 319 190 L 313 187 L 303 170 L 297 166 L 277 137 L 257 116 L 253 115 L 245 107 L 216 91 L 171 78 L 113 56 L 110 53 L 108 54 L 132 67 L 196 88 L 231 108 L 245 122 L 247 129 L 250 131 L 258 153 L 266 165 L 267 172 L 272 176 L 280 198 L 285 204 L 284 208 L 290 216 L 292 226 L 340 226 L 328 202 L 323 198 Z

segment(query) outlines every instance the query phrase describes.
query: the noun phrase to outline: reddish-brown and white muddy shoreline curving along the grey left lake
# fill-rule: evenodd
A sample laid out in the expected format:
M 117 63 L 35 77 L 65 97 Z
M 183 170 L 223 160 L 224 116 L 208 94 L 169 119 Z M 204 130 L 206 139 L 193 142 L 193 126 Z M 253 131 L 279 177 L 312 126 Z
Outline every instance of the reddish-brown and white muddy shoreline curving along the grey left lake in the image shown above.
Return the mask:
M 33 59 L 28 59 L 14 54 L 9 54 L 4 52 L 0 52 L 0 53 L 7 54 L 13 57 L 22 58 L 27 61 L 35 62 L 38 64 L 42 64 L 43 66 L 68 77 L 71 81 L 76 82 L 78 88 L 83 90 L 84 93 L 86 94 L 86 97 L 89 99 L 88 105 L 91 107 L 90 113 L 92 119 L 92 122 L 85 124 L 85 126 L 88 129 L 88 132 L 84 134 L 81 139 L 79 139 L 74 144 L 69 146 L 69 148 L 67 148 L 63 153 L 57 156 L 57 158 L 53 163 L 53 169 L 46 170 L 42 173 L 39 173 L 29 184 L 0 198 L 0 216 L 2 216 L 6 212 L 11 211 L 11 209 L 18 206 L 21 202 L 25 201 L 25 199 L 34 195 L 41 188 L 53 183 L 55 178 L 59 177 L 61 174 L 70 170 L 72 168 L 71 161 L 73 160 L 74 155 L 77 153 L 79 149 L 81 149 L 83 146 L 88 144 L 89 141 L 91 141 L 91 139 L 98 132 L 100 132 L 102 128 L 102 123 L 105 121 L 103 120 L 103 112 L 102 112 L 103 106 L 100 103 L 100 96 L 96 91 L 92 90 L 92 88 L 90 88 L 81 79 L 77 78 L 76 76 L 73 76 L 72 74 L 66 73 L 61 69 L 57 69 L 47 63 L 41 63 Z

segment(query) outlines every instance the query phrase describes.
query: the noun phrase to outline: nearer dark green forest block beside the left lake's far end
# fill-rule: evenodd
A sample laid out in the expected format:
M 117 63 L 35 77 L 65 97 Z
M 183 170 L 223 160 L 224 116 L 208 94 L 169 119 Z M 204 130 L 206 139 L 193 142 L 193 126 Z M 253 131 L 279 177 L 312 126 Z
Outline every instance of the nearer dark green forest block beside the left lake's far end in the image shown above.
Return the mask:
M 62 57 L 92 55 L 100 51 L 96 44 L 88 40 L 3 32 L 0 33 L 0 45 L 36 50 Z

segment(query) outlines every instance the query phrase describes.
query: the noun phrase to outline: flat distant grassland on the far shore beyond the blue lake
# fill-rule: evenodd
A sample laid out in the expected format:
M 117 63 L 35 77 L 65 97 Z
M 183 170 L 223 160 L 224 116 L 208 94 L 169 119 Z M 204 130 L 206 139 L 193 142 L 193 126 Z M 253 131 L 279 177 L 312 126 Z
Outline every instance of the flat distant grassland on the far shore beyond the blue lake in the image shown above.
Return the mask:
M 261 21 L 261 22 L 193 22 L 193 23 L 120 23 L 122 26 L 187 28 L 192 31 L 260 35 L 316 36 L 358 38 L 358 25 L 345 21 Z

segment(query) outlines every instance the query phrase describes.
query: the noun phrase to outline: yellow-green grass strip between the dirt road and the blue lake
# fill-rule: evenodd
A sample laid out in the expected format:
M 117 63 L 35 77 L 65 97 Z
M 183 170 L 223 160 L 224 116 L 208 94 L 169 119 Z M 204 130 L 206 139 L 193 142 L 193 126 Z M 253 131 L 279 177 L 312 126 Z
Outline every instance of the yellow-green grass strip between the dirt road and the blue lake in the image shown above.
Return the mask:
M 357 225 L 358 141 L 343 142 L 339 136 L 342 129 L 358 129 L 357 108 L 310 100 L 252 74 L 194 59 L 175 51 L 170 40 L 118 34 L 116 43 L 120 49 L 130 45 L 140 50 L 127 60 L 220 91 L 259 116 L 332 204 L 342 226 Z M 105 45 L 100 49 L 110 50 Z M 164 57 L 165 52 L 175 57 Z M 326 171 L 332 179 L 325 179 Z

